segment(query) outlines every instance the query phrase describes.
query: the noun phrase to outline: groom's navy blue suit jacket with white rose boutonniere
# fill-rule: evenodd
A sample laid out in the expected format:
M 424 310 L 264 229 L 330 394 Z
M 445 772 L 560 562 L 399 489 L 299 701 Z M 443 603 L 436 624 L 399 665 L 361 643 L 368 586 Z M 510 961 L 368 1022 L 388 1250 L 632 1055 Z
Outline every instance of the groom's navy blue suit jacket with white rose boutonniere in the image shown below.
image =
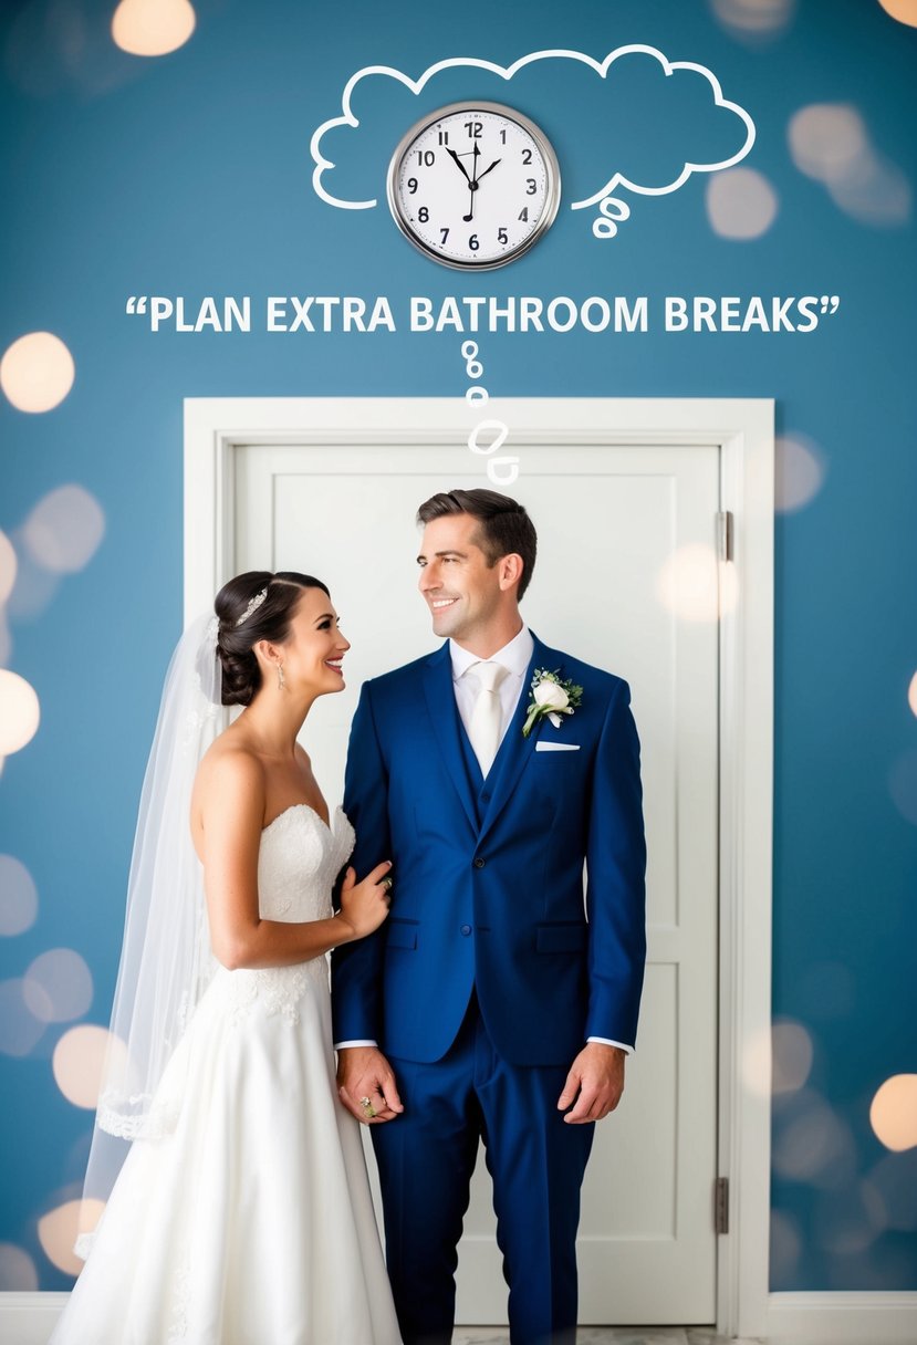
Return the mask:
M 534 639 L 477 799 L 448 643 L 363 686 L 344 788 L 351 863 L 363 877 L 393 859 L 394 890 L 382 928 L 332 956 L 335 1041 L 438 1060 L 476 987 L 512 1064 L 569 1065 L 588 1037 L 635 1042 L 645 845 L 629 690 Z M 535 668 L 581 685 L 582 705 L 524 738 Z M 578 751 L 538 751 L 553 741 Z

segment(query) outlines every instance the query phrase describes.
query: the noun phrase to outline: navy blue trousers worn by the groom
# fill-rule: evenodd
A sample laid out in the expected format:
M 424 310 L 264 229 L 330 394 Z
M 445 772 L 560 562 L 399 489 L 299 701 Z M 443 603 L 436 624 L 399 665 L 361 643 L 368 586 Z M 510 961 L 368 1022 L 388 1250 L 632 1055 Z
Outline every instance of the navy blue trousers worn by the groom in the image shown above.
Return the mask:
M 372 1126 L 386 1259 L 405 1345 L 449 1345 L 479 1138 L 493 1181 L 512 1345 L 573 1345 L 580 1188 L 594 1126 L 557 1110 L 569 1065 L 508 1065 L 476 997 L 434 1064 L 389 1057 L 405 1111 Z

